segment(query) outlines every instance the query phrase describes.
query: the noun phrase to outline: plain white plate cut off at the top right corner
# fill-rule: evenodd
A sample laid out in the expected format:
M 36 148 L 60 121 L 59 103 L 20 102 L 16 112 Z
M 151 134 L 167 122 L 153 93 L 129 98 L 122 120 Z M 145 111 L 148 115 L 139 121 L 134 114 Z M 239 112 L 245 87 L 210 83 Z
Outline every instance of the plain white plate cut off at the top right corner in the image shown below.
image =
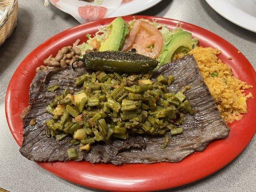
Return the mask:
M 256 0 L 206 0 L 221 16 L 256 33 Z

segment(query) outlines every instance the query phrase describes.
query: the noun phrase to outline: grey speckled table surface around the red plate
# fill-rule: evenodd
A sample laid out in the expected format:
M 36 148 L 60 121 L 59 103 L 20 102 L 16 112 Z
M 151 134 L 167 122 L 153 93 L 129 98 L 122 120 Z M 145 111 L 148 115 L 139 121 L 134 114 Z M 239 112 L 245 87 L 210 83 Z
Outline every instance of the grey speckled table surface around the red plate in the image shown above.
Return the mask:
M 43 1 L 19 0 L 17 27 L 0 47 L 0 187 L 11 192 L 98 192 L 62 180 L 24 158 L 7 125 L 4 97 L 19 63 L 49 37 L 78 24 L 72 16 L 52 5 L 44 7 Z M 140 14 L 177 19 L 206 28 L 232 43 L 256 69 L 256 34 L 224 19 L 204 0 L 163 0 Z M 255 192 L 255 180 L 256 137 L 240 156 L 218 172 L 165 192 Z

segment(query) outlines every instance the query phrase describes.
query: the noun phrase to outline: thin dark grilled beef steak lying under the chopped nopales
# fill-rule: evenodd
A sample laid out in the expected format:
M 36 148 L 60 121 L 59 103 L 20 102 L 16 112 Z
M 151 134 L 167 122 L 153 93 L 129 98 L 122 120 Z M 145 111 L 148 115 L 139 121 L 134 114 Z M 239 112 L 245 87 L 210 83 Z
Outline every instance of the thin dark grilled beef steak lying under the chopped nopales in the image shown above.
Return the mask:
M 84 145 L 94 145 L 89 152 L 87 150 L 81 151 L 80 145 L 77 144 L 78 142 L 73 140 L 70 135 L 63 139 L 60 137 L 60 141 L 57 141 L 54 137 L 49 138 L 48 136 L 51 136 L 51 133 L 45 132 L 45 122 L 52 119 L 52 115 L 46 111 L 47 106 L 45 106 L 45 103 L 50 103 L 56 94 L 61 95 L 67 84 L 69 84 L 71 92 L 79 91 L 80 89 L 75 86 L 75 79 L 85 72 L 85 68 L 77 68 L 73 71 L 67 67 L 50 72 L 37 73 L 30 87 L 30 109 L 23 120 L 24 140 L 20 149 L 23 156 L 34 161 L 66 161 L 69 159 L 67 150 L 75 148 L 77 156 L 73 153 L 73 149 L 70 151 L 72 152 L 70 156 L 72 158 L 74 156 L 77 157 L 76 161 L 85 159 L 91 163 L 110 162 L 113 164 L 177 162 L 195 151 L 202 151 L 211 141 L 225 138 L 229 133 L 229 128 L 221 119 L 218 108 L 203 81 L 193 56 L 185 56 L 181 60 L 163 65 L 158 71 L 153 73 L 153 78 L 158 77 L 159 74 L 163 74 L 165 77 L 168 77 L 168 75 L 174 76 L 175 81 L 171 86 L 167 87 L 169 92 L 177 93 L 185 85 L 189 85 L 191 88 L 185 92 L 185 95 L 195 113 L 194 115 L 184 115 L 182 117 L 184 118 L 182 126 L 178 125 L 179 122 L 175 122 L 177 128 L 183 128 L 183 134 L 177 136 L 167 134 L 169 142 L 164 149 L 161 149 L 161 146 L 164 144 L 163 136 L 130 135 L 126 140 L 117 138 L 108 144 L 97 143 L 96 139 L 98 138 L 95 140 L 91 139 L 90 141 L 86 139 L 81 140 L 81 143 Z M 56 93 L 48 92 L 47 87 L 49 84 L 58 84 L 60 88 L 55 91 Z M 166 98 L 172 100 L 171 96 Z M 175 103 L 175 100 L 173 100 L 173 103 Z M 142 107 L 149 108 L 147 105 Z M 104 109 L 108 110 L 108 107 L 105 106 Z M 95 114 L 88 115 L 93 117 Z M 129 115 L 129 111 L 127 111 L 127 115 Z M 142 118 L 146 118 L 146 121 L 149 122 L 151 120 L 155 123 L 151 118 L 147 119 L 144 115 L 142 115 Z M 68 118 L 72 118 L 72 116 L 70 115 Z M 32 119 L 36 119 L 37 123 L 35 125 L 29 124 Z M 157 124 L 161 123 L 161 119 L 157 118 L 155 121 Z M 129 126 L 134 122 L 129 121 L 125 125 Z M 74 124 L 73 122 L 70 124 L 64 123 L 63 130 L 73 127 Z M 102 126 L 104 126 L 104 123 Z M 120 125 L 119 127 L 123 126 Z M 74 126 L 73 128 L 76 129 L 77 127 Z M 78 126 L 77 129 L 81 129 L 81 127 Z M 84 129 L 87 135 L 97 131 L 89 126 L 84 126 Z M 148 123 L 145 124 L 145 129 L 148 129 Z M 173 127 L 170 127 L 170 130 L 172 129 Z M 116 137 L 124 138 L 125 135 L 119 135 L 123 131 L 124 129 L 119 129 L 118 127 L 116 130 L 110 128 L 107 135 L 115 134 Z M 181 132 L 181 130 L 176 131 Z M 159 132 L 161 132 L 161 129 Z M 173 131 L 173 133 L 175 132 Z M 72 143 L 71 140 L 73 140 Z

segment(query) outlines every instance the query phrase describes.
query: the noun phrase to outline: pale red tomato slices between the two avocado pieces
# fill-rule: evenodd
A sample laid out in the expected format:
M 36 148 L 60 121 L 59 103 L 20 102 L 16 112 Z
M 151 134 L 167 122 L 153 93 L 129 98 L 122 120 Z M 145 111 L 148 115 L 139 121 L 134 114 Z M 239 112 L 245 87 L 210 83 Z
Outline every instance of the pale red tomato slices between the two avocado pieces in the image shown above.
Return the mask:
M 139 54 L 155 59 L 162 51 L 163 36 L 152 24 L 138 20 L 134 23 L 122 50 L 128 51 L 131 48 L 135 48 Z

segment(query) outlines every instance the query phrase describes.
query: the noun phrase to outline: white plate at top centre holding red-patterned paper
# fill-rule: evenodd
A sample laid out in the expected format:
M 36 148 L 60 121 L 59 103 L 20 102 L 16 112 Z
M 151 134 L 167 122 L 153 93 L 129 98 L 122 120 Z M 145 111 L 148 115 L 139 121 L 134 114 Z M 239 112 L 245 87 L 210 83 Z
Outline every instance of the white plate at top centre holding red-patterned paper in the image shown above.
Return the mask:
M 116 11 L 112 12 L 108 17 L 119 17 L 119 16 L 125 16 L 125 15 L 133 15 L 138 12 L 143 12 L 155 6 L 160 1 L 162 0 L 133 0 L 128 3 L 123 3 Z M 62 12 L 68 13 L 66 10 L 63 10 L 60 7 L 56 6 L 56 4 L 52 2 L 51 4 L 54 5 L 56 8 L 58 8 L 59 10 L 61 10 Z

